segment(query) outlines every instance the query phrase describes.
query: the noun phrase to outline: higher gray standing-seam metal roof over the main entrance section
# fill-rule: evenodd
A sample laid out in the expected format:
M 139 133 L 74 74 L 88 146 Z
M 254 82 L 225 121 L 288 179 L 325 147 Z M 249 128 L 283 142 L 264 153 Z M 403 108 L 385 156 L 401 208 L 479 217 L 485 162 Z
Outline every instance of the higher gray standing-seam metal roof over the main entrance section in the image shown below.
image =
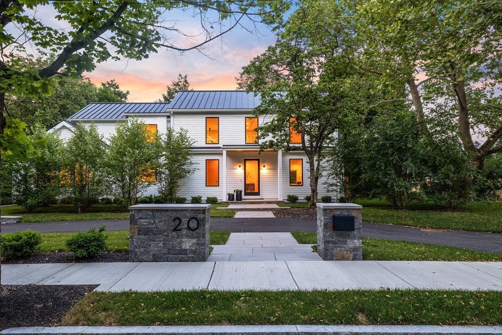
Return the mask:
M 253 109 L 260 94 L 246 91 L 179 91 L 169 109 Z

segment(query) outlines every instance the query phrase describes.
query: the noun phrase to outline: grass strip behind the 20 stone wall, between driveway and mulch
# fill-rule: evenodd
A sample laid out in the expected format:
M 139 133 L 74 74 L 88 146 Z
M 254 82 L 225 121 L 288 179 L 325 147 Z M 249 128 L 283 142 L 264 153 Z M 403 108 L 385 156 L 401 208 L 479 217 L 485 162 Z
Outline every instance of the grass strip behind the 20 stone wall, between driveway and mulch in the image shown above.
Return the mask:
M 65 241 L 74 233 L 42 233 L 42 245 L 40 251 L 43 253 L 68 251 Z M 106 251 L 129 251 L 129 231 L 105 232 L 108 236 L 106 240 Z M 229 231 L 211 231 L 209 243 L 211 245 L 225 244 L 230 236 Z

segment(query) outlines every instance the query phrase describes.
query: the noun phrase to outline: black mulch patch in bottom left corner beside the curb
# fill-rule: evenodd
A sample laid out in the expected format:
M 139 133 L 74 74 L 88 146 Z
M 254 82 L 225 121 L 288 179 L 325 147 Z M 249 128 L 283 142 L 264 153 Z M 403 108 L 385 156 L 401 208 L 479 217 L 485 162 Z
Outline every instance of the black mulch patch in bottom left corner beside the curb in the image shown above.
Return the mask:
M 0 297 L 0 330 L 55 326 L 70 308 L 98 285 L 5 285 Z

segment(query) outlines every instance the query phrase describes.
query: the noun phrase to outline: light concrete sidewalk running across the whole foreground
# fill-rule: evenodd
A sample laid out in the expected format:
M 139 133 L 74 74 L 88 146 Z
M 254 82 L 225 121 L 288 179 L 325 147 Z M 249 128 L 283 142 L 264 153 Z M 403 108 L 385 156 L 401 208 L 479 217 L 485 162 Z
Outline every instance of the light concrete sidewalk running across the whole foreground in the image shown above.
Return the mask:
M 270 261 L 2 266 L 4 285 L 88 285 L 96 291 L 502 290 L 502 262 Z

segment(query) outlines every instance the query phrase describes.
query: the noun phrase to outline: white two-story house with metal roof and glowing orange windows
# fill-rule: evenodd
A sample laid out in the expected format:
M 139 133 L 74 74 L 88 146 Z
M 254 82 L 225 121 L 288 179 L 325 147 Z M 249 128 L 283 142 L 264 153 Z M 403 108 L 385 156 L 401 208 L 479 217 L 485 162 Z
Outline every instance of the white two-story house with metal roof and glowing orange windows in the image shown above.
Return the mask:
M 195 140 L 191 150 L 196 170 L 183 181 L 180 196 L 216 196 L 224 200 L 227 193 L 242 189 L 243 200 L 281 201 L 288 194 L 303 199 L 310 195 L 305 153 L 258 153 L 255 128 L 267 122 L 251 115 L 259 104 L 260 97 L 253 92 L 180 91 L 171 103 L 91 103 L 49 131 L 58 131 L 62 138 L 68 138 L 75 123 L 94 121 L 99 133 L 109 137 L 115 123 L 129 116 L 136 116 L 160 133 L 165 133 L 167 127 L 184 128 Z M 299 136 L 292 131 L 292 145 L 299 142 Z M 319 197 L 328 194 L 324 181 L 319 180 Z

